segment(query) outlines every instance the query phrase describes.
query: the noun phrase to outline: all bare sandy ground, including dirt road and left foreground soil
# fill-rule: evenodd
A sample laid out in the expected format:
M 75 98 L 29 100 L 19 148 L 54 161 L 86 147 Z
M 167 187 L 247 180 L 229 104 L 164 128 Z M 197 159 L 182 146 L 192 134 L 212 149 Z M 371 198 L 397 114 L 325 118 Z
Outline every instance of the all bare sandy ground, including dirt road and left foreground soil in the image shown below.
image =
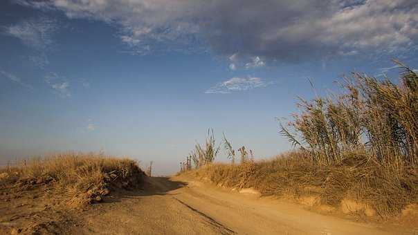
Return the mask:
M 149 178 L 143 190 L 118 191 L 88 209 L 0 189 L 0 234 L 414 234 L 310 212 L 301 205 L 240 194 L 189 178 Z M 9 190 L 10 191 L 10 190 Z M 35 196 L 34 196 L 35 195 Z

